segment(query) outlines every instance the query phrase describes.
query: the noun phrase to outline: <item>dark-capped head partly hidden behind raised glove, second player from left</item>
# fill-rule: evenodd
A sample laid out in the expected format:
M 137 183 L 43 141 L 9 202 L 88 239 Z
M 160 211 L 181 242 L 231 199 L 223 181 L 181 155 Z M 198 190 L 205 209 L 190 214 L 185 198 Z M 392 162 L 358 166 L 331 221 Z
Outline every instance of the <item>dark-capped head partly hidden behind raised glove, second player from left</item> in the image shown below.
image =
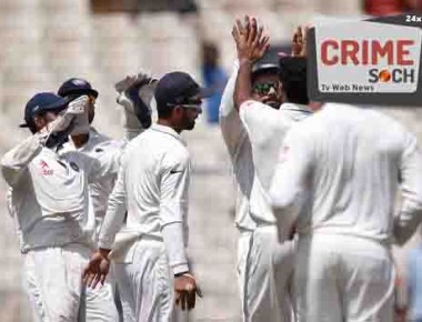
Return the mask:
M 94 90 L 87 80 L 80 78 L 68 79 L 59 88 L 58 94 L 69 100 L 74 100 L 81 95 L 88 95 L 90 98 L 88 121 L 92 123 L 96 115 L 96 100 L 98 98 L 98 91 Z

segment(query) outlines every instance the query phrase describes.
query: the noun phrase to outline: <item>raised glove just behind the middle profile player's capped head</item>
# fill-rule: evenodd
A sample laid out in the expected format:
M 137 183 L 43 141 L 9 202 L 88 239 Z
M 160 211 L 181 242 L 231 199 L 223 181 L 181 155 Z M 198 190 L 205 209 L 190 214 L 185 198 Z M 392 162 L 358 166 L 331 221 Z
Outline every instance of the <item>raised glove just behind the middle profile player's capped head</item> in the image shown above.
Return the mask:
M 117 102 L 124 108 L 129 129 L 143 129 L 151 125 L 151 100 L 155 91 L 157 80 L 144 72 L 127 76 L 115 83 Z

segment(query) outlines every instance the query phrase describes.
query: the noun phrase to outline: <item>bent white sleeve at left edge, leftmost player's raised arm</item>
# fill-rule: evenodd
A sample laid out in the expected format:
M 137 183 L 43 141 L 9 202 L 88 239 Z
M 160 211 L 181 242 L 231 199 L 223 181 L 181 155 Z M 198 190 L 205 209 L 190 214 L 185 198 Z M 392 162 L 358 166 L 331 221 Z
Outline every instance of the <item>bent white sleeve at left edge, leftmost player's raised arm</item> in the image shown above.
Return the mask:
M 1 159 L 1 172 L 8 184 L 16 184 L 28 164 L 42 150 L 41 137 L 31 135 L 12 150 L 7 152 Z

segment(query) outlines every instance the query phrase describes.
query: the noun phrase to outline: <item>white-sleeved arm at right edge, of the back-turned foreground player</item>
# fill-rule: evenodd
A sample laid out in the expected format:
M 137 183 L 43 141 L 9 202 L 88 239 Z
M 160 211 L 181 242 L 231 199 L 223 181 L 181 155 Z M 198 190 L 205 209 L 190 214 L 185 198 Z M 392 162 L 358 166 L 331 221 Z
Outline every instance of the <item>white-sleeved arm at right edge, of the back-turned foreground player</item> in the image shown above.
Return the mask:
M 402 205 L 394 218 L 395 242 L 404 244 L 422 220 L 422 155 L 416 139 L 408 134 L 401 167 Z

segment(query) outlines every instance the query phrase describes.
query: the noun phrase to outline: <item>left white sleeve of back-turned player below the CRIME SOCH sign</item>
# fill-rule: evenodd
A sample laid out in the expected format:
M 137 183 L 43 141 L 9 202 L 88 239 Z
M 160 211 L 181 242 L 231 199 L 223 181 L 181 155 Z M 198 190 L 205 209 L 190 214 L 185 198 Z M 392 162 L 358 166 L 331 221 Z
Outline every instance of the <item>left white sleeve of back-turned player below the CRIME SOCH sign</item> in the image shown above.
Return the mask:
M 275 217 L 294 223 L 309 192 L 312 168 L 312 145 L 300 131 L 288 132 L 270 188 L 270 201 Z

